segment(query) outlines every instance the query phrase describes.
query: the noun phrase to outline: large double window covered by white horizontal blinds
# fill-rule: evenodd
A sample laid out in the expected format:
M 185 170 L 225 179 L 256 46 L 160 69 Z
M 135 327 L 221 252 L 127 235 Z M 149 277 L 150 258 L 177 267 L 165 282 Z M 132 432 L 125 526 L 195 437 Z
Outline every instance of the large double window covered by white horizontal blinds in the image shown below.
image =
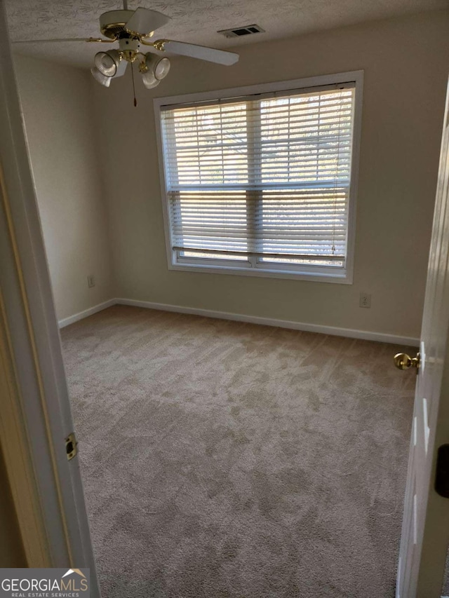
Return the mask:
M 169 266 L 351 282 L 355 75 L 156 100 Z

